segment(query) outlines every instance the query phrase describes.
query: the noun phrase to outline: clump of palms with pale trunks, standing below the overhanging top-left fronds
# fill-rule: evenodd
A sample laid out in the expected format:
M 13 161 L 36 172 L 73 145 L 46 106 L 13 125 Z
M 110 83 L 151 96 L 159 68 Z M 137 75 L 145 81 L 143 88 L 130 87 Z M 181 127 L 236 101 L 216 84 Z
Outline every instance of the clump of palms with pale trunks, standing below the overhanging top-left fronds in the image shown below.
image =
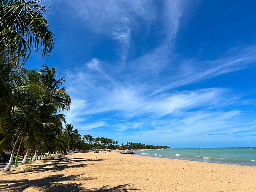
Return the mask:
M 12 88 L 14 106 L 7 119 L 1 118 L 0 126 L 0 132 L 4 134 L 0 146 L 4 149 L 9 143 L 14 143 L 4 171 L 10 171 L 18 144 L 19 148 L 23 146 L 27 150 L 22 163 L 28 163 L 28 157 L 32 154 L 32 160 L 36 160 L 38 151 L 65 150 L 66 141 L 58 140 L 62 123 L 65 123 L 64 115 L 60 112 L 70 109 L 71 98 L 65 87 L 60 88 L 65 82 L 64 78 L 56 79 L 56 75 L 55 68 L 44 65 L 40 72 L 19 69 L 12 77 L 15 80 Z

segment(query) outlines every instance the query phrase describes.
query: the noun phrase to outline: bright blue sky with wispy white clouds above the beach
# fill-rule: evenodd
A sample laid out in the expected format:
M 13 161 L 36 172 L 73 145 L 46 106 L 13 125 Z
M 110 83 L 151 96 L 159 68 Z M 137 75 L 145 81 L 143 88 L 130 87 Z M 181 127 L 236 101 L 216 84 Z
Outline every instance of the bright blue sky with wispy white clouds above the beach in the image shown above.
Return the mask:
M 79 133 L 171 148 L 256 146 L 255 1 L 60 1 L 55 50 Z

